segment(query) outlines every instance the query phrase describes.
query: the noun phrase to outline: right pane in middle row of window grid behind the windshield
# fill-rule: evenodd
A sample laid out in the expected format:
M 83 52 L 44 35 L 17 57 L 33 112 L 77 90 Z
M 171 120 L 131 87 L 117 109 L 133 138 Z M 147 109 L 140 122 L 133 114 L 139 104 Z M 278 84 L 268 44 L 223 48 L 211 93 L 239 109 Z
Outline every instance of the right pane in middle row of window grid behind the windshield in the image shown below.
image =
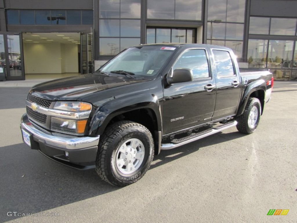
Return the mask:
M 121 37 L 140 37 L 140 20 L 121 19 Z

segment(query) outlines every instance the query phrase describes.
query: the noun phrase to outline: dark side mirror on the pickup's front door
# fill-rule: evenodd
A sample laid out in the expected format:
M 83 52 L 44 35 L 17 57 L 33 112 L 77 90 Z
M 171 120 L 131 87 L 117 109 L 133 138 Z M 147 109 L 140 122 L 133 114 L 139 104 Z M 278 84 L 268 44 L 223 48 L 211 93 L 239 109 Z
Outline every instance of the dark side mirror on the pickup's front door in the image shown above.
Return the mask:
M 193 72 L 188 68 L 175 69 L 173 71 L 171 67 L 167 74 L 166 80 L 168 84 L 192 81 Z

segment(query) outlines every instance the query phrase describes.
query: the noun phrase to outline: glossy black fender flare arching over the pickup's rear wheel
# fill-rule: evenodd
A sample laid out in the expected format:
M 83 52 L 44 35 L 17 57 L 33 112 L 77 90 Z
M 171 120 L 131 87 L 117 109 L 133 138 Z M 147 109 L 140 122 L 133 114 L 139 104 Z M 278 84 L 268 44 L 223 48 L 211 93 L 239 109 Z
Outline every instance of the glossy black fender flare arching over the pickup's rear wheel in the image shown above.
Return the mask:
M 262 111 L 261 111 L 261 115 L 263 113 L 263 107 L 264 107 L 264 103 L 265 103 L 265 94 L 266 94 L 266 82 L 264 80 L 257 80 L 257 81 L 253 81 L 252 83 L 248 84 L 247 87 L 245 88 L 244 90 L 244 93 L 243 93 L 243 96 L 242 96 L 242 100 L 240 102 L 240 105 L 239 105 L 239 109 L 238 109 L 238 112 L 237 112 L 237 115 L 236 116 L 240 116 L 241 114 L 243 114 L 244 112 L 244 109 L 247 105 L 247 101 L 250 97 L 250 95 L 253 93 L 253 92 L 256 92 L 256 91 L 263 91 L 264 93 L 264 98 L 263 100 L 261 101 L 261 107 L 262 107 Z

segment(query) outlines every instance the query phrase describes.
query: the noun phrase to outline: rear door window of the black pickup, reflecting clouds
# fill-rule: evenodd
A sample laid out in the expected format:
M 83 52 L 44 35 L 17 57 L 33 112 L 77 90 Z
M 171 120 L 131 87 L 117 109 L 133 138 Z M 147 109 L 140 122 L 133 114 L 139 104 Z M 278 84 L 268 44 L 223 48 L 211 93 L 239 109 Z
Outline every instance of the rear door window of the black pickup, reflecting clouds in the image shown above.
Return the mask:
M 213 50 L 217 76 L 235 75 L 231 56 L 228 51 Z

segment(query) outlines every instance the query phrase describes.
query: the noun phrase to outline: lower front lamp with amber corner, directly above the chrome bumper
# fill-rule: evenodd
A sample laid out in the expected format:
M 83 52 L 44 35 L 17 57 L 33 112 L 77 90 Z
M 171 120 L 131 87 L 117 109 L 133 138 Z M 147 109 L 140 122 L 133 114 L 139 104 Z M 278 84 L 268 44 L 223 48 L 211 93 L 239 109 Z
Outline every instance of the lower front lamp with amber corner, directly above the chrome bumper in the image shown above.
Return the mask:
M 87 119 L 73 120 L 67 118 L 51 117 L 50 130 L 72 135 L 83 135 L 87 125 Z

